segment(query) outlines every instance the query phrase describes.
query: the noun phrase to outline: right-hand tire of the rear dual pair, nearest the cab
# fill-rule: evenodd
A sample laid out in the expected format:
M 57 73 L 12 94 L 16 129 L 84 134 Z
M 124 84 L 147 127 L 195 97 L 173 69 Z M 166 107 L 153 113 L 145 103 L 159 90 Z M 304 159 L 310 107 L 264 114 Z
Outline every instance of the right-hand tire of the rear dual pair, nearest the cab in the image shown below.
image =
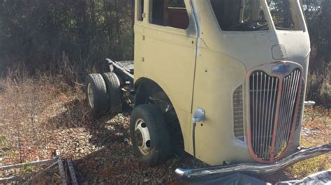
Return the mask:
M 113 72 L 102 74 L 105 80 L 108 93 L 108 108 L 110 113 L 117 114 L 122 111 L 122 91 L 121 83 L 117 75 Z

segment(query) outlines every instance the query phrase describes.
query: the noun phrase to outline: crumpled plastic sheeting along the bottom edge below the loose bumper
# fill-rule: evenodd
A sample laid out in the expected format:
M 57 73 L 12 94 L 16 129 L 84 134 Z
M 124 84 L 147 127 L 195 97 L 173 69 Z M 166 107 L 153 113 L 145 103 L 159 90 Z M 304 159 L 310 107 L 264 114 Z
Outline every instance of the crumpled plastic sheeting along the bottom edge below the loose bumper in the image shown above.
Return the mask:
M 230 175 L 223 175 L 219 177 L 212 177 L 200 180 L 198 182 L 191 182 L 191 184 L 226 184 L 226 185 L 265 185 L 270 184 L 264 182 L 263 180 L 256 179 L 249 175 L 244 175 L 241 173 L 233 173 Z M 317 172 L 314 175 L 310 175 L 301 180 L 293 180 L 288 182 L 277 182 L 276 185 L 290 185 L 290 184 L 300 184 L 300 185 L 331 185 L 331 170 L 324 172 Z

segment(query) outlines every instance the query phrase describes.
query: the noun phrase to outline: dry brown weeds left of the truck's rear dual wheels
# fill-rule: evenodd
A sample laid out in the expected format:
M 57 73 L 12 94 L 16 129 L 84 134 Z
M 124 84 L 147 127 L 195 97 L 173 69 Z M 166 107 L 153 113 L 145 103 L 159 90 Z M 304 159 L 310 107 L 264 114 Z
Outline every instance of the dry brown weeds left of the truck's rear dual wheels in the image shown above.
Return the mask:
M 15 143 L 10 150 L 15 157 L 3 159 L 5 163 L 48 159 L 56 150 L 50 148 L 57 142 L 52 130 L 89 124 L 80 74 L 74 67 L 64 56 L 58 71 L 31 77 L 20 68 L 8 70 L 0 79 L 0 136 Z

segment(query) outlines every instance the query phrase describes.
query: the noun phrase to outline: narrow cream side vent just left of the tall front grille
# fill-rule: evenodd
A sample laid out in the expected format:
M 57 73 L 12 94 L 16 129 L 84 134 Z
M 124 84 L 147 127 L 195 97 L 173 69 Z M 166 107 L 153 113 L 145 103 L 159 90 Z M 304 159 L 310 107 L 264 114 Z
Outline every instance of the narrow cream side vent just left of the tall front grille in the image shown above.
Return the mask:
M 244 110 L 242 104 L 242 86 L 233 93 L 233 120 L 235 137 L 244 141 Z

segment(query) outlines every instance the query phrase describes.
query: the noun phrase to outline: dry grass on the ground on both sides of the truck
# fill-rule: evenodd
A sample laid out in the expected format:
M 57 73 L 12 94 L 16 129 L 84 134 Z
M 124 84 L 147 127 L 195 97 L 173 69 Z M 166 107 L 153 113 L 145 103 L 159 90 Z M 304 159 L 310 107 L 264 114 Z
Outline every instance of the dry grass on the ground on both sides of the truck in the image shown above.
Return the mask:
M 68 65 L 60 71 L 57 75 L 40 73 L 34 78 L 24 72 L 11 71 L 0 79 L 0 166 L 49 159 L 65 141 L 62 134 L 70 135 L 72 128 L 76 128 L 75 133 L 91 132 L 86 128 L 93 120 L 84 103 L 78 74 Z M 330 143 L 330 111 L 308 108 L 304 120 L 303 147 Z M 74 141 L 68 142 L 72 149 L 64 149 L 65 156 L 80 152 L 73 145 Z M 275 176 L 275 182 L 328 170 L 330 163 L 330 154 L 297 163 L 281 171 L 281 177 Z M 23 171 L 31 172 L 31 169 Z

